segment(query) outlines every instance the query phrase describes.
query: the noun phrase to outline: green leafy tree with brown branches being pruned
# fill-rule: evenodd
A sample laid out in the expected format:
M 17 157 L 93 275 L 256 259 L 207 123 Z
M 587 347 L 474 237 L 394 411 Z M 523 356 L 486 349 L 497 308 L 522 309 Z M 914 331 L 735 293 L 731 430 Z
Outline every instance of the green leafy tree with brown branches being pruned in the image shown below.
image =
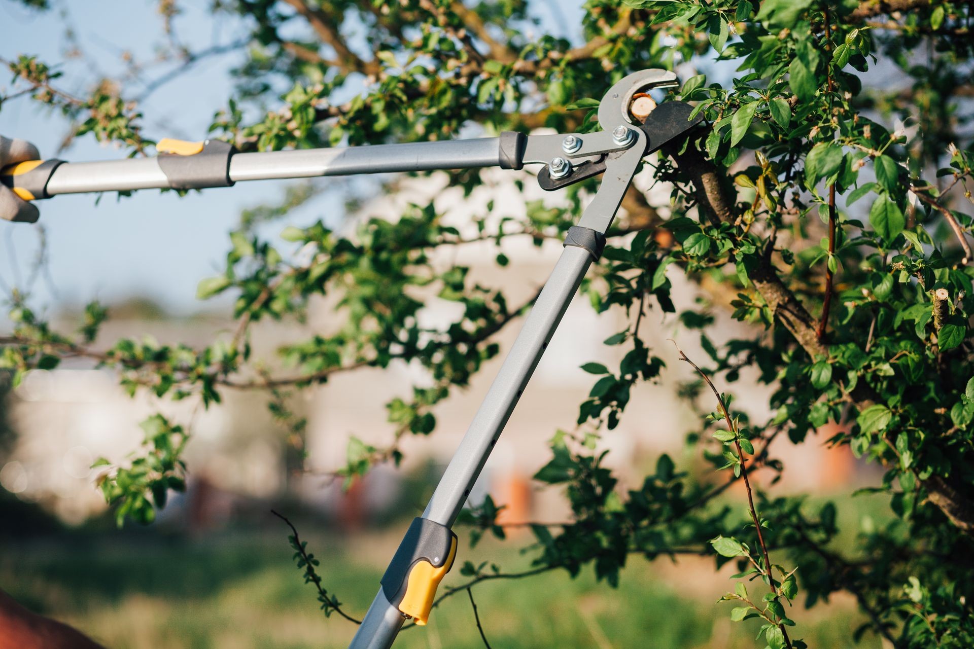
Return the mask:
M 48 5 L 21 1 L 39 11 Z M 158 5 L 169 60 L 190 65 L 211 54 L 179 40 L 178 0 Z M 613 82 L 678 67 L 683 85 L 672 97 L 693 103 L 706 126 L 644 162 L 672 184 L 669 201 L 654 204 L 630 188 L 583 286 L 595 309 L 630 316 L 605 342 L 626 353 L 619 367 L 586 366 L 595 376 L 579 427 L 555 435 L 536 475 L 565 487 L 574 513 L 567 524 L 533 527 L 538 570 L 577 574 L 594 565 L 615 584 L 633 554 L 712 555 L 718 566 L 739 565 L 724 598 L 732 620 L 763 619 L 759 646 L 804 647 L 803 613 L 792 604 L 839 592 L 865 613 L 853 638 L 974 645 L 974 268 L 969 204 L 961 209 L 971 199 L 974 157 L 969 3 L 587 0 L 583 42 L 543 33 L 523 0 L 214 0 L 211 11 L 239 31 L 224 47 L 242 61 L 211 135 L 244 151 L 444 139 L 470 129 L 585 132 L 597 128 L 597 97 Z M 71 94 L 55 63 L 30 53 L 4 61 L 16 81 L 0 103 L 38 101 L 72 121 L 72 137 L 153 153 L 126 80 Z M 469 191 L 480 178 L 466 171 L 450 182 Z M 561 238 L 597 183 L 572 188 L 565 207 L 536 205 L 500 230 L 485 215 L 478 238 Z M 446 270 L 434 266 L 433 251 L 468 240 L 428 205 L 352 234 L 320 223 L 287 227 L 281 236 L 302 249 L 300 258 L 254 234 L 255 221 L 286 219 L 312 194 L 299 188 L 249 213 L 230 236 L 226 269 L 200 282 L 201 298 L 236 296 L 232 336 L 205 347 L 124 340 L 95 348 L 103 306 L 92 303 L 78 331 L 64 333 L 20 296 L 0 364 L 16 382 L 30 369 L 85 356 L 115 368 L 131 393 L 205 404 L 226 390 L 263 389 L 283 424 L 300 430 L 288 394 L 337 373 L 418 362 L 431 380 L 387 404 L 388 446 L 354 440 L 341 473 L 352 480 L 378 462 L 397 463 L 399 440 L 435 435 L 435 405 L 498 353 L 495 336 L 530 303 L 508 304 L 503 292 L 470 281 L 462 256 Z M 720 301 L 673 316 L 699 329 L 707 350 L 686 359 L 701 378 L 693 396 L 716 400 L 691 441 L 718 477 L 662 455 L 652 475 L 623 488 L 593 440 L 613 434 L 633 385 L 666 377 L 641 338 L 640 318 L 650 307 L 674 310 L 674 271 L 735 295 L 733 317 L 753 325 L 748 336 L 716 345 L 708 329 Z M 420 287 L 460 303 L 463 317 L 421 327 Z M 342 328 L 286 344 L 281 361 L 293 369 L 268 372 L 251 354 L 250 325 L 301 318 L 322 295 L 340 306 Z M 767 421 L 731 405 L 744 368 L 773 388 Z M 830 444 L 882 467 L 870 489 L 895 514 L 888 524 L 845 530 L 853 545 L 836 542 L 843 530 L 835 504 L 811 507 L 748 481 L 749 473 L 788 470 L 768 451 L 771 440 L 806 444 L 829 422 L 841 424 Z M 183 486 L 184 428 L 161 415 L 143 427 L 144 449 L 100 482 L 120 522 L 151 522 L 168 489 Z M 748 482 L 749 506 L 715 507 L 738 480 Z M 503 536 L 498 506 L 488 498 L 467 523 Z M 474 561 L 462 571 L 470 583 L 495 574 Z M 325 612 L 338 609 L 333 595 L 320 596 Z

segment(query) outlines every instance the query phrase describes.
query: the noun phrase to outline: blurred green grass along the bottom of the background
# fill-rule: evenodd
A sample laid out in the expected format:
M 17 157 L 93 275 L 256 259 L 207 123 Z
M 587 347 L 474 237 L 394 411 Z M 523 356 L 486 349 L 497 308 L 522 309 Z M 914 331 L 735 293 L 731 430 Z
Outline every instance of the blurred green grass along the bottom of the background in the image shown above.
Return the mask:
M 327 588 L 360 616 L 378 590 L 397 538 L 369 534 L 354 541 L 308 532 Z M 516 540 L 514 541 L 516 543 Z M 464 559 L 496 560 L 506 570 L 527 566 L 510 547 L 484 542 L 461 547 Z M 462 583 L 455 569 L 445 585 Z M 42 545 L 0 547 L 0 587 L 34 610 L 92 634 L 113 649 L 344 647 L 355 632 L 337 616 L 324 618 L 281 534 L 223 535 L 196 541 L 156 536 L 82 537 Z M 590 571 L 530 580 L 499 580 L 474 589 L 495 649 L 586 646 L 654 649 L 736 649 L 754 642 L 756 626 L 731 624 L 731 606 L 717 598 L 731 582 L 710 560 L 635 559 L 618 589 L 596 584 Z M 756 587 L 752 587 L 756 588 Z M 811 647 L 848 644 L 862 622 L 850 601 L 792 617 L 795 636 Z M 483 647 L 467 595 L 446 600 L 426 629 L 400 635 L 396 646 Z M 867 635 L 859 645 L 878 649 Z

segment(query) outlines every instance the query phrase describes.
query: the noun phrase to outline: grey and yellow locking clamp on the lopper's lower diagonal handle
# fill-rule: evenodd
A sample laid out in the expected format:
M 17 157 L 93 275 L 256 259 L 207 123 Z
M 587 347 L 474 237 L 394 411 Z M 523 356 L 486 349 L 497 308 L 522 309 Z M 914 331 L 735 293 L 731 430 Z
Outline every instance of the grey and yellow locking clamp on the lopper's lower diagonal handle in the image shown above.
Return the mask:
M 413 519 L 382 577 L 383 594 L 404 617 L 425 625 L 436 588 L 456 556 L 457 535 L 453 530 L 429 519 Z

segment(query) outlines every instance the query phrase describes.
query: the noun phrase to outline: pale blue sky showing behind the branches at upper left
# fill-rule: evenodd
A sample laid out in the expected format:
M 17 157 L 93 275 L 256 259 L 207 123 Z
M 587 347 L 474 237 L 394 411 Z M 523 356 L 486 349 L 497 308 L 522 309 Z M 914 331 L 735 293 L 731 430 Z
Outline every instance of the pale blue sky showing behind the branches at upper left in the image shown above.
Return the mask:
M 64 63 L 61 69 L 65 74 L 58 81 L 63 90 L 81 92 L 98 72 L 109 76 L 119 73 L 123 50 L 131 50 L 136 59 L 152 59 L 163 42 L 156 2 L 61 0 L 52 4 L 53 11 L 40 14 L 18 3 L 0 2 L 0 56 L 10 59 L 18 54 L 37 54 L 46 62 L 65 61 L 62 35 L 65 23 L 70 24 L 89 58 Z M 174 22 L 179 38 L 195 49 L 225 43 L 234 36 L 234 25 L 214 23 L 206 13 L 207 4 L 180 3 L 185 13 Z M 565 11 L 560 2 L 545 0 L 536 10 L 544 28 L 559 33 L 579 29 L 580 5 L 573 3 Z M 561 14 L 557 19 L 556 13 Z M 577 39 L 579 35 L 571 36 Z M 225 106 L 230 95 L 230 68 L 239 60 L 237 56 L 206 59 L 151 94 L 140 105 L 146 136 L 203 139 L 213 113 Z M 155 79 L 170 69 L 171 63 L 157 66 L 146 78 Z M 4 88 L 9 88 L 9 79 L 0 77 L 0 92 Z M 81 162 L 124 155 L 99 146 L 91 136 L 57 154 L 65 132 L 64 119 L 39 109 L 36 102 L 19 99 L 0 110 L 0 133 L 31 140 L 46 158 Z M 197 282 L 221 268 L 228 247 L 226 234 L 237 224 L 240 210 L 280 197 L 286 182 L 242 183 L 185 198 L 154 191 L 121 199 L 105 195 L 97 205 L 92 195 L 43 201 L 39 204 L 48 238 L 50 281 L 42 278 L 34 283 L 31 302 L 56 309 L 92 298 L 110 304 L 130 296 L 147 296 L 175 313 L 218 306 L 195 300 Z M 301 225 L 324 214 L 333 217 L 341 209 L 340 198 L 325 194 L 287 221 Z M 262 234 L 274 234 L 282 227 L 272 225 L 270 232 Z M 22 285 L 38 248 L 37 230 L 0 222 L 0 239 L 0 288 Z

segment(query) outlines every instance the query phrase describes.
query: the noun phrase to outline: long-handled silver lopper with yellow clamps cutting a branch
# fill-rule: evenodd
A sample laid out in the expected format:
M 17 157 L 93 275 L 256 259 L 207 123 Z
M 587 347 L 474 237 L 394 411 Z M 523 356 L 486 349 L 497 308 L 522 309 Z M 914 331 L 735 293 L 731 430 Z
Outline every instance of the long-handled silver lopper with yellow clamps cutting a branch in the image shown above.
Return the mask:
M 436 588 L 456 558 L 457 535 L 451 527 L 585 271 L 601 256 L 606 232 L 639 162 L 700 122 L 698 117 L 691 119 L 690 105 L 667 101 L 657 106 L 647 94 L 677 85 L 676 75 L 666 70 L 641 70 L 623 78 L 602 98 L 598 120 L 603 130 L 593 133 L 525 135 L 506 131 L 500 137 L 469 140 L 264 153 L 238 153 L 219 140 L 161 140 L 156 158 L 19 162 L 0 170 L 0 182 L 20 198 L 35 200 L 90 192 L 230 187 L 271 178 L 487 166 L 520 169 L 533 163 L 544 165 L 538 181 L 545 190 L 603 174 L 598 192 L 585 207 L 578 225 L 569 229 L 554 270 L 426 511 L 409 525 L 350 645 L 353 649 L 385 649 L 392 646 L 404 621 L 427 623 Z

